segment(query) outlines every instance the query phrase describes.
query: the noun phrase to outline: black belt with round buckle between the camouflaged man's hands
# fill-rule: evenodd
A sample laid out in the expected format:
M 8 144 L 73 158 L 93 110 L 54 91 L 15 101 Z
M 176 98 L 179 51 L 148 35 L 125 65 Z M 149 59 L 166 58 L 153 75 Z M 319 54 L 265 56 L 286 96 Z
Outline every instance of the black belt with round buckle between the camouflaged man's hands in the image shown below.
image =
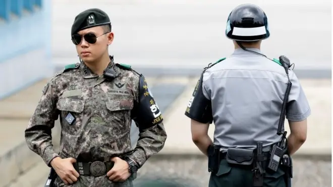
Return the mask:
M 80 175 L 102 176 L 105 175 L 115 165 L 115 162 L 76 162 L 73 164 L 75 170 Z

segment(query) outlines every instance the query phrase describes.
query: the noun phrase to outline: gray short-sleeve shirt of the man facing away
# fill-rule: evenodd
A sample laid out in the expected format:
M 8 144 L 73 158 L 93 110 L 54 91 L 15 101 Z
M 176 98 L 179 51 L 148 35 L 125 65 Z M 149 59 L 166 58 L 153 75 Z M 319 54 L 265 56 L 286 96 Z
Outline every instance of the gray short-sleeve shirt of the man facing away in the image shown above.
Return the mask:
M 259 49 L 249 50 L 261 53 Z M 310 106 L 292 70 L 289 76 L 292 88 L 287 118 L 304 120 L 310 115 Z M 236 49 L 231 56 L 205 71 L 202 84 L 204 96 L 211 101 L 215 145 L 223 149 L 255 149 L 256 142 L 261 141 L 264 151 L 268 151 L 281 140 L 276 132 L 288 85 L 281 65 Z

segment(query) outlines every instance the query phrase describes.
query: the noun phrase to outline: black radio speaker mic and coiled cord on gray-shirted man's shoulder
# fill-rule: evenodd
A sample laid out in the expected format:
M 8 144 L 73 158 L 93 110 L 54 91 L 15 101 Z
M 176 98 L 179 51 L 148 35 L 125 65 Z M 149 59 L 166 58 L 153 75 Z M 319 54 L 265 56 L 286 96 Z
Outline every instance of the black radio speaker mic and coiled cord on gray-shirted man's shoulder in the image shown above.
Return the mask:
M 276 61 L 276 59 L 274 59 L 273 61 Z M 289 79 L 289 71 L 288 71 L 288 68 L 290 67 L 289 59 L 286 56 L 280 56 L 279 61 L 280 61 L 281 65 L 285 68 L 285 71 L 286 71 L 286 74 L 288 77 L 288 85 L 287 85 L 287 90 L 285 93 L 285 98 L 282 103 L 282 110 L 281 110 L 280 119 L 279 119 L 278 132 L 276 133 L 277 135 L 280 136 L 280 135 L 282 135 L 282 127 L 285 124 L 287 104 L 288 104 L 288 99 L 289 99 L 289 94 L 290 94 L 290 90 L 292 87 L 292 83 Z

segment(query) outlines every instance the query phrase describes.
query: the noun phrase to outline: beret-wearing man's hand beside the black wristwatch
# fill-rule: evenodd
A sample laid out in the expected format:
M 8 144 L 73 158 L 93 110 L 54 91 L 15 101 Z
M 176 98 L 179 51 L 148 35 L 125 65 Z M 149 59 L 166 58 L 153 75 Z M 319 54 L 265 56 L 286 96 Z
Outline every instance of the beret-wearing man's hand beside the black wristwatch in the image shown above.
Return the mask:
M 115 181 L 115 182 L 123 182 L 125 181 L 128 177 L 131 176 L 131 173 L 129 171 L 129 165 L 128 163 L 119 158 L 119 157 L 114 157 L 111 159 L 111 161 L 115 162 L 114 167 L 109 170 L 106 173 L 106 176 L 108 179 Z

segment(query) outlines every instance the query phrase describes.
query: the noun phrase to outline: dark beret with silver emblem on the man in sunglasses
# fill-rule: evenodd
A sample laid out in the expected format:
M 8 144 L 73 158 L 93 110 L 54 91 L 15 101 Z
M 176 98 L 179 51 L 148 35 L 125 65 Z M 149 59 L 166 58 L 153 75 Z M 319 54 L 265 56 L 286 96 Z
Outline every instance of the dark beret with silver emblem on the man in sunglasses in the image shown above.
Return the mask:
M 90 27 L 111 24 L 107 14 L 100 9 L 88 9 L 75 17 L 71 36 Z

